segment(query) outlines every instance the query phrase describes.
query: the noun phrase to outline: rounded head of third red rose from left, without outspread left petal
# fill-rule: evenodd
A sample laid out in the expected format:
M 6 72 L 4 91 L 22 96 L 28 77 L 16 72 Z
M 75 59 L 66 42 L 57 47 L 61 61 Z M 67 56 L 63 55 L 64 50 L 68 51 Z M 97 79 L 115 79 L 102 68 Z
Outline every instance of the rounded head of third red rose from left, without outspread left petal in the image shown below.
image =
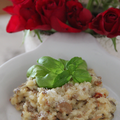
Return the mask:
M 81 31 L 86 30 L 92 17 L 91 12 L 88 9 L 83 8 L 80 2 L 67 2 L 67 19 L 72 27 Z

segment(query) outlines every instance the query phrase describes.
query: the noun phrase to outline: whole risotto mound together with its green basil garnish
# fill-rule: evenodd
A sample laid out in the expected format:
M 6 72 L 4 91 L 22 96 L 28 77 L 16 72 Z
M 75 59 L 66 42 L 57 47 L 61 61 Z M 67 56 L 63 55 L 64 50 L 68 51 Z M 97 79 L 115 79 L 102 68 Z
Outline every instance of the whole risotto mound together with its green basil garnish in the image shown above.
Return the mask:
M 102 88 L 101 77 L 81 57 L 41 57 L 14 89 L 10 102 L 22 120 L 111 120 L 116 101 Z

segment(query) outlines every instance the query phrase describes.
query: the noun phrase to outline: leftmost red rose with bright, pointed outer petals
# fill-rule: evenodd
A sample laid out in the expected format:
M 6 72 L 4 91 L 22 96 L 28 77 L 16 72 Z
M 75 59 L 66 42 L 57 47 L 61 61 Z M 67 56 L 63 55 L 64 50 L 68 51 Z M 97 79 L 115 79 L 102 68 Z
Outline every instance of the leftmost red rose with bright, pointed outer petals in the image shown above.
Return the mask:
M 50 26 L 41 22 L 41 18 L 35 9 L 35 1 L 33 0 L 21 0 L 19 4 L 6 7 L 4 10 L 12 15 L 7 25 L 7 32 L 9 33 L 25 29 L 51 29 Z

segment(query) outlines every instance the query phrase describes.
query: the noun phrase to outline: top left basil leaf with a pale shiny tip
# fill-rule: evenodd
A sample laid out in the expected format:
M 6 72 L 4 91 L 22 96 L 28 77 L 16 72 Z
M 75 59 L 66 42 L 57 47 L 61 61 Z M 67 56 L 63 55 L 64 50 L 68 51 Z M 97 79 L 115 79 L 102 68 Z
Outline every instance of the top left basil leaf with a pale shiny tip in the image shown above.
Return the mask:
M 60 61 L 49 56 L 41 57 L 37 62 L 55 74 L 60 74 L 64 70 L 64 65 Z

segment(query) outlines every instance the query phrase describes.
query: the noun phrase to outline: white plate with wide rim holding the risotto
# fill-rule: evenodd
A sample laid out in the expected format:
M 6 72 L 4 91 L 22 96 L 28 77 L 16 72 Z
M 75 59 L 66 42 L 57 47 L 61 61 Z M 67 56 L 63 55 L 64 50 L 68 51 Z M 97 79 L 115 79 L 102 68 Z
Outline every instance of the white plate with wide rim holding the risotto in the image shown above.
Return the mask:
M 105 52 L 95 38 L 86 33 L 56 33 L 37 49 L 11 59 L 0 67 L 0 120 L 21 120 L 21 113 L 10 104 L 13 89 L 26 81 L 27 69 L 42 56 L 70 59 L 80 56 L 88 67 L 102 76 L 109 96 L 118 101 L 113 120 L 120 118 L 120 60 Z

